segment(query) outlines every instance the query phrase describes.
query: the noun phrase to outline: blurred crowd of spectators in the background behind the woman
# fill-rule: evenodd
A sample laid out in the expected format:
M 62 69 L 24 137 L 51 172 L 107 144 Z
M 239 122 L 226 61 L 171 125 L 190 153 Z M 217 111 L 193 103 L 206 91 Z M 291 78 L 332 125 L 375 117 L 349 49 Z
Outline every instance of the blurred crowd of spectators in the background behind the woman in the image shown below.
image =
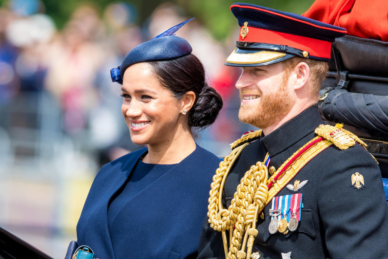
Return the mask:
M 313 0 L 247 2 L 302 14 Z M 109 70 L 191 17 L 177 35 L 191 43 L 224 101 L 215 124 L 196 132 L 197 143 L 225 156 L 255 130 L 237 118 L 240 70 L 223 65 L 239 33 L 232 3 L 0 0 L 0 226 L 64 257 L 99 168 L 141 148 L 130 141 Z

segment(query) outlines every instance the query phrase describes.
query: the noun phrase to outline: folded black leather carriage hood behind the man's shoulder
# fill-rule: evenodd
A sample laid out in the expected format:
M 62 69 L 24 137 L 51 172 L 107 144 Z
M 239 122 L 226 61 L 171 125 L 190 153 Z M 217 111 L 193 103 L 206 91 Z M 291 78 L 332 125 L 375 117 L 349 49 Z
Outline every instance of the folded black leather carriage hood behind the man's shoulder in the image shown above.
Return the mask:
M 319 111 L 359 136 L 388 178 L 388 42 L 354 36 L 332 44 Z

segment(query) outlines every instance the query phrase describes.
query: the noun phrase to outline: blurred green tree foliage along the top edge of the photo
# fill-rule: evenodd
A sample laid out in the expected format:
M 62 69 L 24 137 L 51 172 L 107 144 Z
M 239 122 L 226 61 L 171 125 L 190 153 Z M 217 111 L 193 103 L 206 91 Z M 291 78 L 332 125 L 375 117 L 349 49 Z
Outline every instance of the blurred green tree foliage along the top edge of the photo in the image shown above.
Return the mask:
M 6 5 L 10 0 L 0 0 L 0 5 Z M 88 4 L 94 6 L 102 14 L 105 7 L 113 3 L 112 0 L 41 0 L 43 12 L 54 19 L 57 28 L 61 29 L 68 21 L 74 9 L 80 5 Z M 144 24 L 152 11 L 165 0 L 130 0 L 123 1 L 131 3 L 138 10 L 137 24 Z M 185 10 L 187 16 L 196 17 L 217 40 L 225 40 L 231 28 L 236 27 L 236 19 L 230 13 L 229 7 L 233 0 L 171 0 Z M 307 10 L 314 0 L 246 0 L 246 3 L 263 5 L 269 8 L 302 14 Z

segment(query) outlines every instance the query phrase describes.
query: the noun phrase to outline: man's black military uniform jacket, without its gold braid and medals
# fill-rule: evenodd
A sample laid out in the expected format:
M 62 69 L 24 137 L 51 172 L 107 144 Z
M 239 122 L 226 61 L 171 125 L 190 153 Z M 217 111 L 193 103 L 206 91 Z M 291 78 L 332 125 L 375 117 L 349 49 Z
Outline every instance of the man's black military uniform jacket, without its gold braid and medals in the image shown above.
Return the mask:
M 313 139 L 324 122 L 315 106 L 308 108 L 268 136 L 251 142 L 234 163 L 225 182 L 223 200 L 229 207 L 245 172 L 268 151 L 270 165 L 278 169 L 295 151 Z M 351 177 L 359 172 L 364 188 L 354 188 Z M 258 235 L 252 252 L 262 257 L 301 258 L 388 258 L 388 212 L 378 164 L 360 144 L 340 150 L 332 145 L 313 158 L 290 181 L 308 183 L 298 191 L 283 188 L 276 196 L 303 193 L 301 220 L 296 231 L 270 234 L 271 203 L 258 219 Z M 227 236 L 229 233 L 227 231 Z M 224 258 L 221 232 L 204 221 L 198 258 Z

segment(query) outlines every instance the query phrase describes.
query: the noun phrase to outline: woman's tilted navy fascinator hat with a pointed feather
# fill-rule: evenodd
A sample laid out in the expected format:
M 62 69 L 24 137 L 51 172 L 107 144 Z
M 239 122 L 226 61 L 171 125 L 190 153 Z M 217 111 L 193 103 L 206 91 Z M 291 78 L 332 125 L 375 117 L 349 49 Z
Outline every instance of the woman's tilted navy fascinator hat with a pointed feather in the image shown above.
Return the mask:
M 152 40 L 134 47 L 130 52 L 128 52 L 128 54 L 126 54 L 123 63 L 121 63 L 120 66 L 111 69 L 112 82 L 118 82 L 122 85 L 125 70 L 135 63 L 161 61 L 190 54 L 192 52 L 192 48 L 189 42 L 187 42 L 184 38 L 175 36 L 174 33 L 192 19 L 194 18 L 177 24 L 159 34 Z

